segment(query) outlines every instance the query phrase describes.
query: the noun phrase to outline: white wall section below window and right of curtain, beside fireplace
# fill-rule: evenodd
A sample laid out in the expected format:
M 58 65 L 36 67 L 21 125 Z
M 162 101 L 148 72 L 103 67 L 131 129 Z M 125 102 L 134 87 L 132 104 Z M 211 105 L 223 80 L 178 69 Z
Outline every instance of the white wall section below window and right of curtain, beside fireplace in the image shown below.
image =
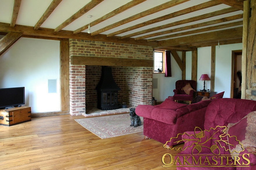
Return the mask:
M 182 52 L 177 52 L 180 59 L 182 59 Z M 168 96 L 173 96 L 175 89 L 175 82 L 181 79 L 182 72 L 171 55 L 172 77 L 164 77 L 164 73 L 153 73 L 153 79 L 158 79 L 158 88 L 153 89 L 152 97 L 157 99 L 157 102 L 164 101 Z

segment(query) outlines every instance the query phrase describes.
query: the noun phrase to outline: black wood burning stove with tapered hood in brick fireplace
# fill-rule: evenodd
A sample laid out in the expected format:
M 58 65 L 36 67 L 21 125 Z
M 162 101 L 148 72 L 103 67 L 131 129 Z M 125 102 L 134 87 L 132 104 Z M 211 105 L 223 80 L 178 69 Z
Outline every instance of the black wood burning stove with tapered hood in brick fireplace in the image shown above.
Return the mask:
M 101 110 L 118 109 L 118 91 L 121 89 L 115 83 L 112 68 L 102 66 L 101 78 L 95 88 L 97 90 L 97 108 Z

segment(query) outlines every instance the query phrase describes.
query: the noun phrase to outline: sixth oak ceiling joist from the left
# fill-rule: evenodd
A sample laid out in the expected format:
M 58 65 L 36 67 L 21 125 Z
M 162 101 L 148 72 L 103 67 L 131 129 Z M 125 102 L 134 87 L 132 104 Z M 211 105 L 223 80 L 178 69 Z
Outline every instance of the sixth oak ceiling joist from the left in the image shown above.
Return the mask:
M 167 15 L 155 18 L 155 19 L 151 19 L 151 20 L 145 21 L 143 23 L 139 23 L 139 24 L 131 26 L 131 27 L 128 27 L 128 28 L 125 28 L 125 29 L 122 29 L 122 30 L 119 30 L 119 31 L 116 31 L 116 32 L 113 32 L 113 33 L 110 33 L 110 34 L 107 35 L 107 37 L 112 37 L 114 35 L 118 35 L 118 34 L 130 31 L 130 30 L 141 28 L 143 26 L 147 26 L 147 25 L 150 25 L 150 24 L 153 24 L 153 23 L 164 21 L 166 19 L 171 19 L 171 18 L 174 18 L 174 17 L 185 15 L 185 14 L 188 14 L 188 13 L 191 13 L 191 12 L 195 12 L 195 11 L 198 11 L 198 10 L 202 10 L 202 9 L 205 9 L 205 8 L 213 7 L 213 6 L 216 6 L 216 5 L 219 5 L 219 4 L 221 4 L 221 3 L 216 1 L 216 0 L 211 0 L 211 1 L 208 1 L 208 2 L 205 2 L 205 3 L 201 3 L 199 5 L 196 5 L 196 6 L 192 6 L 192 7 L 183 9 L 183 10 L 179 10 L 179 11 L 176 11 L 176 12 L 173 12 L 173 13 L 170 13 L 170 14 L 167 14 Z

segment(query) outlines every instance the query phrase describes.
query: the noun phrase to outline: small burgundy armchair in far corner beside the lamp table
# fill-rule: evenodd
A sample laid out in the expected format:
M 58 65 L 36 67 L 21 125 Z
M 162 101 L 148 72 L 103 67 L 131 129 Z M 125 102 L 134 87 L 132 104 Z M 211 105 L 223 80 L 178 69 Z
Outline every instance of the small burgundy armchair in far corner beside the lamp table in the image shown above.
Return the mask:
M 186 86 L 186 84 L 190 84 L 190 86 L 193 88 L 193 90 L 189 91 L 189 94 L 186 94 L 184 90 L 182 90 L 182 88 L 184 88 Z M 176 102 L 178 102 L 179 100 L 183 100 L 183 101 L 189 101 L 189 104 L 191 104 L 191 101 L 193 100 L 193 94 L 195 92 L 196 89 L 196 81 L 194 80 L 178 80 L 175 83 L 175 88 L 173 90 L 174 95 L 173 95 L 173 100 Z

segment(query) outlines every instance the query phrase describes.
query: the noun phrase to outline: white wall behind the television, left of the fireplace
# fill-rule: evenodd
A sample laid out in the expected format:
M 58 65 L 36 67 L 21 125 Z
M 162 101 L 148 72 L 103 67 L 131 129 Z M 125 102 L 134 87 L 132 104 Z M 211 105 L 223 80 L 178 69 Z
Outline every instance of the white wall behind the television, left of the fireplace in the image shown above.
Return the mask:
M 24 86 L 32 113 L 60 111 L 59 49 L 59 41 L 20 38 L 0 56 L 0 88 Z M 48 79 L 57 79 L 57 93 L 48 93 Z

